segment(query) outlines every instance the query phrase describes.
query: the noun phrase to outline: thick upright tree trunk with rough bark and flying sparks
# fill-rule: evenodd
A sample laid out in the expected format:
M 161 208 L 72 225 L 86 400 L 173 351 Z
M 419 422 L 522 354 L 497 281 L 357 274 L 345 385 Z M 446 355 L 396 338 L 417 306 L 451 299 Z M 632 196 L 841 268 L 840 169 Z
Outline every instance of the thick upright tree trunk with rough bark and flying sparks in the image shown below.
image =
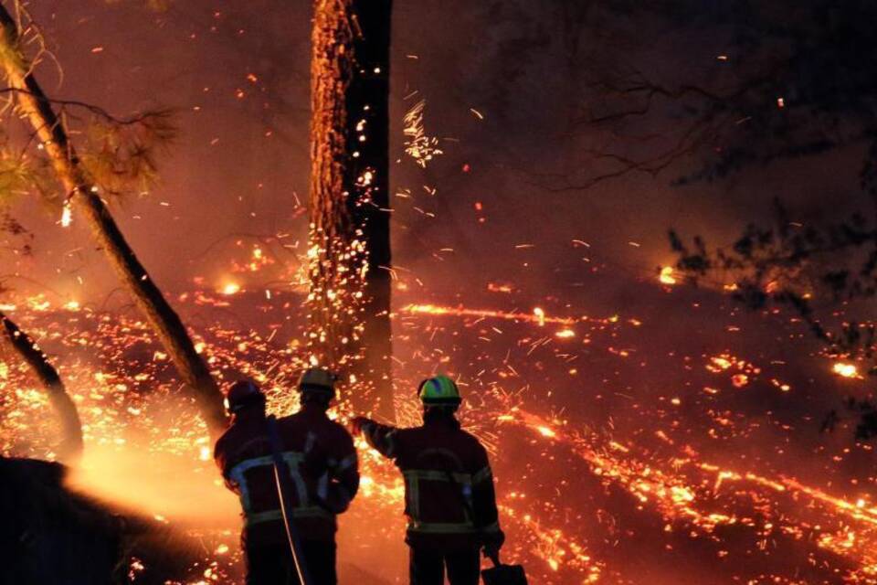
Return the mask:
M 388 195 L 392 0 L 316 0 L 311 65 L 313 356 L 393 414 Z

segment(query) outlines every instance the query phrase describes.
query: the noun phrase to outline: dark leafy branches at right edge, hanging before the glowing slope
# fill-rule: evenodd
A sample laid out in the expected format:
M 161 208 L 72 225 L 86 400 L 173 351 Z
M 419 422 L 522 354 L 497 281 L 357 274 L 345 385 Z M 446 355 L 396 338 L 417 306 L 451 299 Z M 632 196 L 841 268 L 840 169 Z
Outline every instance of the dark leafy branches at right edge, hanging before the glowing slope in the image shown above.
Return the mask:
M 777 202 L 773 222 L 750 224 L 728 248 L 710 247 L 701 237 L 688 242 L 675 231 L 671 247 L 679 255 L 677 268 L 691 282 L 724 288 L 751 309 L 790 308 L 824 344 L 827 356 L 857 361 L 875 375 L 874 217 L 856 213 L 834 224 L 803 225 Z M 847 405 L 861 415 L 856 437 L 877 436 L 877 405 L 856 399 Z M 829 419 L 836 418 L 832 412 Z

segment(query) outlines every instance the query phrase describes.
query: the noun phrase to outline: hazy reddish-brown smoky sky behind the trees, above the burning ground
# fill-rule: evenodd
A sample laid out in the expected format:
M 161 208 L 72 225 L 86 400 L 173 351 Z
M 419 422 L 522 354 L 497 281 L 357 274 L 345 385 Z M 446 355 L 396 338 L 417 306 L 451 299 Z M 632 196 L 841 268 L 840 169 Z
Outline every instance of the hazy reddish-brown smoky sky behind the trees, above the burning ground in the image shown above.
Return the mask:
M 459 293 L 517 281 L 541 289 L 558 270 L 577 281 L 595 262 L 622 278 L 648 277 L 672 261 L 671 227 L 724 243 L 746 221 L 766 218 L 773 197 L 818 218 L 821 202 L 848 188 L 837 177 L 854 180 L 857 159 L 840 152 L 684 188 L 671 182 L 696 165 L 692 159 L 657 176 L 544 188 L 543 176 L 594 165 L 585 150 L 602 135 L 574 122 L 576 112 L 599 107 L 588 84 L 602 69 L 623 58 L 660 79 L 681 80 L 713 67 L 724 48 L 721 31 L 680 33 L 623 11 L 606 16 L 592 4 L 576 23 L 559 9 L 576 3 L 396 2 L 394 254 L 400 274 L 417 276 L 417 286 Z M 278 233 L 283 258 L 301 260 L 310 3 L 186 0 L 155 11 L 133 1 L 69 0 L 29 7 L 58 64 L 38 70 L 50 94 L 118 115 L 174 108 L 178 136 L 159 159 L 160 183 L 114 205 L 158 282 L 178 291 L 203 277 L 215 286 L 242 253 L 237 241 Z M 402 122 L 421 100 L 424 130 L 443 151 L 426 169 L 405 154 Z M 61 229 L 57 210 L 32 198 L 20 199 L 15 213 L 36 234 L 33 258 L 17 261 L 16 271 L 50 282 L 62 296 L 102 298 L 115 286 L 76 218 L 72 229 Z M 10 284 L 27 289 L 33 282 Z

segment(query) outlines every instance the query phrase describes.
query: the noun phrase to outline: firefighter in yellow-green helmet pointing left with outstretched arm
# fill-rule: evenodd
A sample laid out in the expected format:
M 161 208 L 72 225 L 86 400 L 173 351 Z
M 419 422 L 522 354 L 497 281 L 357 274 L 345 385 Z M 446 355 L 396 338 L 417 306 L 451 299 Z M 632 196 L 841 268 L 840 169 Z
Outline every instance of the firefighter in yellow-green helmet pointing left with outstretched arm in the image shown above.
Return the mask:
M 405 478 L 406 542 L 412 585 L 477 585 L 481 559 L 498 558 L 493 475 L 481 442 L 460 428 L 460 390 L 447 376 L 424 380 L 423 425 L 396 429 L 357 417 L 354 434 L 396 462 Z

